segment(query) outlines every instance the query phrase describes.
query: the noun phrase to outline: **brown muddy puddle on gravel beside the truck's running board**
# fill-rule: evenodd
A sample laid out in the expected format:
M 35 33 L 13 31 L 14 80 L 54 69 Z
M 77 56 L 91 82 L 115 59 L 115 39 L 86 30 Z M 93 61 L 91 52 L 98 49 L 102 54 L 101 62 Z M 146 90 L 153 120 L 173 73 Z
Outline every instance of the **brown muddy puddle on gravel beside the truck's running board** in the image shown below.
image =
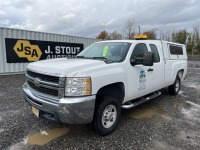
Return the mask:
M 130 117 L 134 119 L 151 119 L 155 116 L 170 119 L 169 115 L 164 110 L 154 106 L 137 108 L 130 115 Z

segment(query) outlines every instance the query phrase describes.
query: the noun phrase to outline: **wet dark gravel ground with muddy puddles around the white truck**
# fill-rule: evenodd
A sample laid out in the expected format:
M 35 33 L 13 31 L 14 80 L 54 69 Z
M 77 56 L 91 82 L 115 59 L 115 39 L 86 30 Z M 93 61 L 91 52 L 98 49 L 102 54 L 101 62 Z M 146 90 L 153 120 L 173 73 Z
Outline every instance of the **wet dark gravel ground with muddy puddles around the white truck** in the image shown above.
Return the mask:
M 0 76 L 0 149 L 200 149 L 200 68 L 188 69 L 177 96 L 163 89 L 160 97 L 123 110 L 106 137 L 90 125 L 36 118 L 23 99 L 24 82 L 24 75 Z

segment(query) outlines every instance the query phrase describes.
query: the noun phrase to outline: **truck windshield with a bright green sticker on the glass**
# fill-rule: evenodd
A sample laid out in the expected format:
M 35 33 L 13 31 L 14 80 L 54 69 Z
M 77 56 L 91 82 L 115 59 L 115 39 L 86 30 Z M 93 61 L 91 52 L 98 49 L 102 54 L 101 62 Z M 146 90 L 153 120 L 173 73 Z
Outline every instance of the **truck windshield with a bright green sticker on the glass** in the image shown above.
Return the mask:
M 122 62 L 124 61 L 130 46 L 131 43 L 125 42 L 94 43 L 79 53 L 77 57 Z

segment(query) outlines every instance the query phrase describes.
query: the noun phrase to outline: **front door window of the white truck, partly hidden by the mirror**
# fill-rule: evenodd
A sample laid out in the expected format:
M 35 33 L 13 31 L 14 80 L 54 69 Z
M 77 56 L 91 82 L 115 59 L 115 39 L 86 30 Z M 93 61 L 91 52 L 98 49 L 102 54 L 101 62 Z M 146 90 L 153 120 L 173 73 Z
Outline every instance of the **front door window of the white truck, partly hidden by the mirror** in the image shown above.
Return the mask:
M 136 57 L 143 57 L 144 52 L 147 52 L 147 46 L 144 43 L 139 43 L 135 46 L 135 48 L 133 49 L 131 58 L 135 59 Z

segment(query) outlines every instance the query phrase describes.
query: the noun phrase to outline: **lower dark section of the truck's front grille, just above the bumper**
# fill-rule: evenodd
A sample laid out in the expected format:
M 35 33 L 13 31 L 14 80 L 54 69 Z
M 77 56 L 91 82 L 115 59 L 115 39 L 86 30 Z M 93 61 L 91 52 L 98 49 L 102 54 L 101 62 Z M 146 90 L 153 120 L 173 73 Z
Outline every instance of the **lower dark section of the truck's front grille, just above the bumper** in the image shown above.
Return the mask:
M 50 88 L 46 88 L 46 87 L 41 87 L 41 86 L 35 86 L 35 84 L 33 84 L 30 81 L 27 81 L 27 83 L 36 92 L 39 92 L 39 93 L 45 94 L 45 95 L 58 97 L 58 90 L 50 89 Z

